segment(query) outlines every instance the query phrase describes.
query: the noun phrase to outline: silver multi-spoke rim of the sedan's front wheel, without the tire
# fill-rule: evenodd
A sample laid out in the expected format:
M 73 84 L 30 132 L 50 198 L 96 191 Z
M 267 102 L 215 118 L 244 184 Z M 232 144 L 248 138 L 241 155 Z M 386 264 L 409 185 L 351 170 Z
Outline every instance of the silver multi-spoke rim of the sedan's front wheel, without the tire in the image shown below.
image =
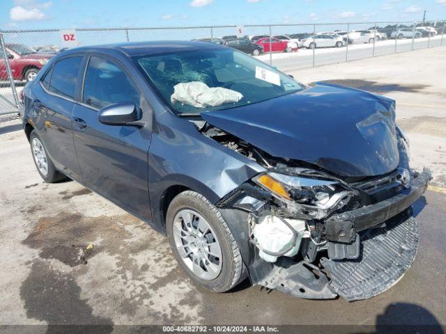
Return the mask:
M 191 209 L 174 218 L 174 241 L 178 254 L 194 276 L 213 280 L 222 271 L 222 248 L 208 221 Z

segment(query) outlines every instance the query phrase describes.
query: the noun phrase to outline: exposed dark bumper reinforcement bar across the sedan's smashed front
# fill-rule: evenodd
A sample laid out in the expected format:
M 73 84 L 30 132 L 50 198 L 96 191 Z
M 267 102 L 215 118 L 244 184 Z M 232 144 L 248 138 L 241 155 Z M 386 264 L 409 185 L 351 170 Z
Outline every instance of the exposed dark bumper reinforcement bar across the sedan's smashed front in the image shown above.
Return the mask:
M 351 243 L 357 232 L 372 228 L 413 205 L 422 196 L 432 179 L 431 171 L 424 168 L 412 181 L 410 189 L 374 205 L 335 214 L 318 225 L 318 232 L 329 241 Z

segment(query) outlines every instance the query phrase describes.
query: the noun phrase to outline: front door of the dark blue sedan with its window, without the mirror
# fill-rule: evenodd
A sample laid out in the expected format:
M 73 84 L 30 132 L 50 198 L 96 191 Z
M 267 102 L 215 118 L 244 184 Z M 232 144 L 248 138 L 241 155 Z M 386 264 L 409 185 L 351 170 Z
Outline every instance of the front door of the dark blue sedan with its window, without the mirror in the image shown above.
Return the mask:
M 73 136 L 86 186 L 150 221 L 150 130 L 98 121 L 100 109 L 118 102 L 134 102 L 139 112 L 146 113 L 150 109 L 146 100 L 123 65 L 93 54 L 86 65 L 80 101 L 73 110 Z

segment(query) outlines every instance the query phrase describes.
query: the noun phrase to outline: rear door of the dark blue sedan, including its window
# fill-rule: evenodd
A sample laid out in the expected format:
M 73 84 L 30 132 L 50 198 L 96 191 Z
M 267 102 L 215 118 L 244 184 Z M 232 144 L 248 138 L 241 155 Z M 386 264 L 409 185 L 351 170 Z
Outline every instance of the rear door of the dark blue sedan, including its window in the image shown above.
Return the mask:
M 33 108 L 45 115 L 45 131 L 39 133 L 45 148 L 56 168 L 75 179 L 79 179 L 80 170 L 72 139 L 71 116 L 83 62 L 83 55 L 61 58 L 33 88 Z

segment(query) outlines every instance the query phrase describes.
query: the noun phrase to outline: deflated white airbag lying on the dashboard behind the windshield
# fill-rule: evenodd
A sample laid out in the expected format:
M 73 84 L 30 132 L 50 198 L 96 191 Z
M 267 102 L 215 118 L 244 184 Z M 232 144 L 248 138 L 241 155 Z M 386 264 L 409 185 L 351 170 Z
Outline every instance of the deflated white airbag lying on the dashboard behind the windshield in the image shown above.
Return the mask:
M 222 87 L 209 87 L 200 81 L 176 84 L 174 86 L 174 94 L 170 97 L 172 104 L 180 102 L 199 108 L 239 102 L 242 98 L 243 95 L 236 92 L 236 90 Z

